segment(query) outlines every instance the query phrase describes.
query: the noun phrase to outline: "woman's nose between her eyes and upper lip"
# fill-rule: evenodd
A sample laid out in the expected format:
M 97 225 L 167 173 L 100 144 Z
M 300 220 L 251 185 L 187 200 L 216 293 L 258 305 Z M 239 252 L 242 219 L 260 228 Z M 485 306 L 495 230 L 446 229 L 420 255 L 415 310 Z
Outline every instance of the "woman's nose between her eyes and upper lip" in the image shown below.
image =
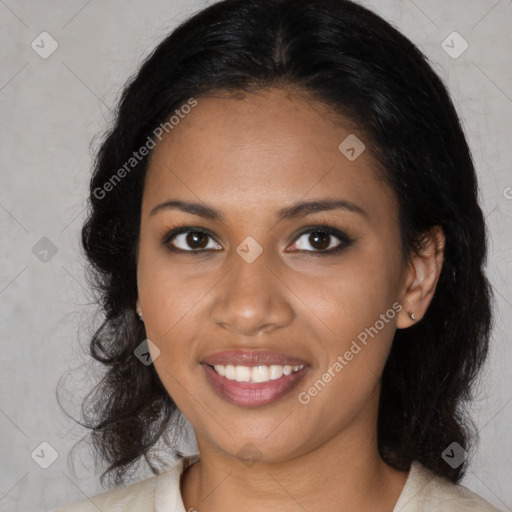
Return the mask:
M 211 292 L 212 321 L 251 337 L 289 325 L 294 318 L 291 291 L 275 265 L 269 265 L 265 250 L 251 263 L 236 253 L 231 259 L 231 270 Z

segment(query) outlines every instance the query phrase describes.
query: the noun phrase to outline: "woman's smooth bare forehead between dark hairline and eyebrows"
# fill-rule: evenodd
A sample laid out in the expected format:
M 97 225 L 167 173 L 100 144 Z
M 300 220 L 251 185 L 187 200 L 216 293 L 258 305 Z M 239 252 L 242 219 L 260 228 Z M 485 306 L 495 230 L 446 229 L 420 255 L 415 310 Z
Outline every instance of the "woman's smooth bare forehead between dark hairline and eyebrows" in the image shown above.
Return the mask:
M 393 194 L 377 179 L 368 145 L 351 160 L 339 149 L 345 140 L 364 144 L 365 137 L 302 93 L 198 97 L 153 150 L 143 209 L 178 196 L 223 210 L 273 203 L 277 209 L 329 196 L 359 203 L 378 217 L 375 206 L 392 209 Z

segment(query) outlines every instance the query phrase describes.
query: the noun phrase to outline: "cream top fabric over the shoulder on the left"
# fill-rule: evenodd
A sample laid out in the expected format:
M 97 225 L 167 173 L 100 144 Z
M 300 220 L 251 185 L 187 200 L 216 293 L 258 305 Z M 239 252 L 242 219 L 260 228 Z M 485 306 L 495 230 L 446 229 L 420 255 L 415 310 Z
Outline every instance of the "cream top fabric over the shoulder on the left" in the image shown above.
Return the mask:
M 54 512 L 151 512 L 158 509 L 157 503 L 162 494 L 166 495 L 167 503 L 175 504 L 175 508 L 166 510 L 181 512 L 180 476 L 183 469 L 196 460 L 196 456 L 184 457 L 160 475 L 97 494 Z

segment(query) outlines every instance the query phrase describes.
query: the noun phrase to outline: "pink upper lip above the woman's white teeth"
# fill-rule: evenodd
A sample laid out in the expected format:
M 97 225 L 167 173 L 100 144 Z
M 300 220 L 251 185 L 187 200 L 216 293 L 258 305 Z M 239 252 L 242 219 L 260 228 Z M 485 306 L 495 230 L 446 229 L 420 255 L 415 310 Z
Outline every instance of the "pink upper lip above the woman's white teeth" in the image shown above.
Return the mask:
M 232 364 L 234 366 L 300 366 L 307 364 L 306 361 L 298 357 L 281 354 L 272 350 L 221 350 L 207 355 L 201 362 L 210 366 L 216 364 Z

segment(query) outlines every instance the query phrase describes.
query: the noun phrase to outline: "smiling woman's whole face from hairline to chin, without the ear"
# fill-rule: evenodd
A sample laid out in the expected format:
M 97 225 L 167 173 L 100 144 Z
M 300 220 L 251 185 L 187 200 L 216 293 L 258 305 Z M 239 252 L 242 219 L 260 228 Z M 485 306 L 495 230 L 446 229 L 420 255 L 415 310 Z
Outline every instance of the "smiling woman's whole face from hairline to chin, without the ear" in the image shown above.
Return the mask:
M 364 136 L 304 96 L 197 102 L 142 202 L 137 303 L 162 383 L 201 450 L 275 462 L 368 439 L 406 316 L 392 191 Z

